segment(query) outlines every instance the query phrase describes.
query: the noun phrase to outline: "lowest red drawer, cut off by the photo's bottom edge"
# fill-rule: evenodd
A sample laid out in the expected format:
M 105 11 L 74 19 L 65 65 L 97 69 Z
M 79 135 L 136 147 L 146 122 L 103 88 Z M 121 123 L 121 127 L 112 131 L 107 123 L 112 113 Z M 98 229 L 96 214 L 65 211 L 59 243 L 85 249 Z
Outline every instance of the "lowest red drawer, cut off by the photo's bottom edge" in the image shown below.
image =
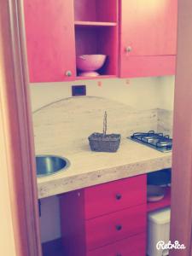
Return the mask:
M 87 253 L 87 256 L 145 256 L 146 234 L 131 236 Z

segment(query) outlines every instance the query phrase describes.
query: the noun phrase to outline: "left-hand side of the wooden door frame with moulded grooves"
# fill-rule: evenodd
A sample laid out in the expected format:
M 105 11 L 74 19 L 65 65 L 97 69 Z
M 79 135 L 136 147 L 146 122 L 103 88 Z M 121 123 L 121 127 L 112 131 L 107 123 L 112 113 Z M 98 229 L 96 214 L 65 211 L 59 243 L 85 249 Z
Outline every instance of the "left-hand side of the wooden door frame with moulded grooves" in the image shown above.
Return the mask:
M 0 5 L 0 161 L 8 177 L 12 255 L 41 256 L 23 6 L 21 0 Z

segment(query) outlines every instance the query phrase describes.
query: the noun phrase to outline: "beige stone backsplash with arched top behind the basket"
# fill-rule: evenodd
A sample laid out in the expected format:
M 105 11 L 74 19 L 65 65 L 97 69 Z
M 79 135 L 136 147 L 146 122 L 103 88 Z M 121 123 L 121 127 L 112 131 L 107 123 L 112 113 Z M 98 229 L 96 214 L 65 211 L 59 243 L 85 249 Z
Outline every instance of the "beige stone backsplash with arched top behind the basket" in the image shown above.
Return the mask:
M 33 113 L 36 154 L 52 154 L 60 148 L 66 154 L 90 150 L 87 138 L 102 132 L 105 111 L 108 133 L 119 133 L 122 139 L 136 131 L 157 131 L 157 109 L 138 111 L 102 97 L 70 97 Z

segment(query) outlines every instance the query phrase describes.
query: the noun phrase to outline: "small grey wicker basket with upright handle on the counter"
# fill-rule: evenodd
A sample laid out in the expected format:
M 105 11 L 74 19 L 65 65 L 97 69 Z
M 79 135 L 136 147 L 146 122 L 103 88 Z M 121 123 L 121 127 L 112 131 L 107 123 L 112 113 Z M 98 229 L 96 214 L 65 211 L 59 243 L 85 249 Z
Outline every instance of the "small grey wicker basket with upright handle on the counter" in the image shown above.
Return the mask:
M 90 149 L 97 152 L 116 152 L 120 144 L 120 134 L 106 134 L 107 113 L 103 119 L 103 133 L 94 132 L 88 137 Z

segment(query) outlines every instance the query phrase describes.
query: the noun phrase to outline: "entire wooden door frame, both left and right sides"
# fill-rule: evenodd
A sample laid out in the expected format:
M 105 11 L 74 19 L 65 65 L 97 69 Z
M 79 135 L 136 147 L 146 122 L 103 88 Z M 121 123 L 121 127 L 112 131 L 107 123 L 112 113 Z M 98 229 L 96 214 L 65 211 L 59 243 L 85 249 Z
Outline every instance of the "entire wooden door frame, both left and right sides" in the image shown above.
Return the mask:
M 0 70 L 2 70 L 0 71 L 0 137 L 3 138 L 1 147 L 4 153 L 0 154 L 0 160 L 3 162 L 3 172 L 6 172 L 9 178 L 8 195 L 11 203 L 9 205 L 15 255 L 41 256 L 22 4 L 22 0 L 5 0 L 0 8 Z M 171 239 L 184 243 L 187 250 L 174 250 L 171 252 L 172 256 L 189 256 L 191 253 L 192 120 L 188 116 L 192 116 L 192 108 L 189 108 L 192 99 L 192 78 L 189 70 L 189 67 L 192 67 L 192 54 L 187 50 L 192 45 L 191 5 L 191 0 L 178 1 L 172 156 Z M 181 102 L 182 98 L 183 102 Z

